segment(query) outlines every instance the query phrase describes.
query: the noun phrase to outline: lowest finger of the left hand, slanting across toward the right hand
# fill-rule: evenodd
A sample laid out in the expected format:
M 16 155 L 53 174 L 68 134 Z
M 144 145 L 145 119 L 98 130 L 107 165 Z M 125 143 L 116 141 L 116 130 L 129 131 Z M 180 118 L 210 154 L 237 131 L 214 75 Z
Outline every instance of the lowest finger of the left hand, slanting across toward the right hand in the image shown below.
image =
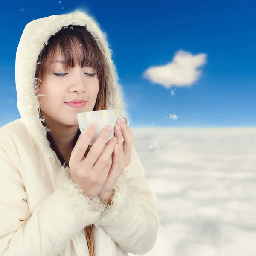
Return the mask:
M 99 172 L 99 176 L 101 175 L 101 172 L 108 162 L 109 158 L 111 157 L 111 154 L 113 152 L 114 146 L 116 145 L 117 139 L 116 137 L 112 137 L 111 140 L 108 142 L 107 147 L 102 152 L 102 154 L 99 156 L 98 160 L 94 163 L 92 170 L 93 172 Z

